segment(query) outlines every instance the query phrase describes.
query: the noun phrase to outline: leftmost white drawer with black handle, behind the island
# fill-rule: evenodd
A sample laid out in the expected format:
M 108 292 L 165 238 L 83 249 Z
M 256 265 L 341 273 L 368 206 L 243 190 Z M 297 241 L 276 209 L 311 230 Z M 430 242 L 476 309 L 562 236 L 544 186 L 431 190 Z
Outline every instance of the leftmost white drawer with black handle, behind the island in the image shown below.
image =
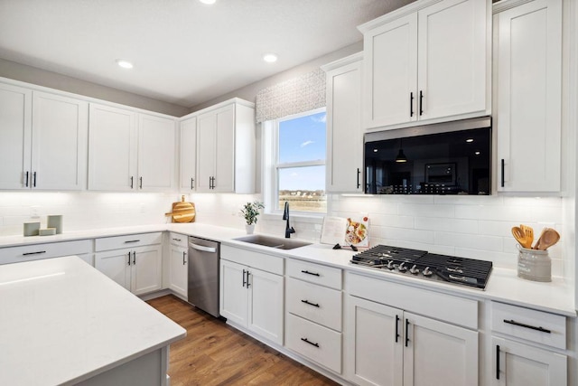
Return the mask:
M 0 264 L 18 263 L 92 252 L 92 240 L 51 242 L 0 249 Z

